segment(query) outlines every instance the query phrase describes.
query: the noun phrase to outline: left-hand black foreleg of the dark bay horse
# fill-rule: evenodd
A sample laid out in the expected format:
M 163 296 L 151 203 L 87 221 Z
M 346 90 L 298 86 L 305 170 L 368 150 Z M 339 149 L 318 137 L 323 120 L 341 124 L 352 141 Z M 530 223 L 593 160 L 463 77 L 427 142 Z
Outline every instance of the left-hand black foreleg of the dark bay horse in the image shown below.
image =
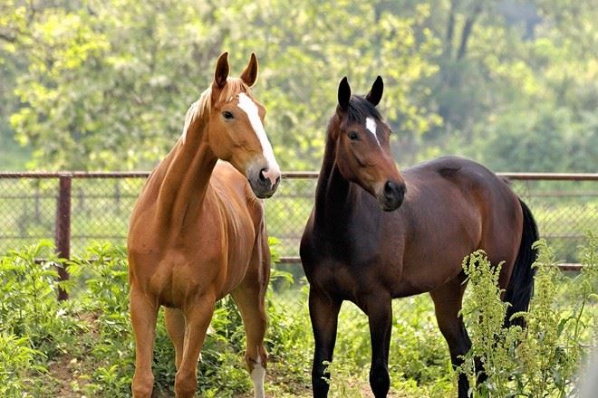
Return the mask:
M 342 301 L 328 295 L 309 291 L 309 315 L 312 319 L 313 351 L 312 387 L 313 396 L 322 398 L 328 395 L 330 372 L 324 362 L 333 361 L 334 344 L 336 343 L 336 327 Z

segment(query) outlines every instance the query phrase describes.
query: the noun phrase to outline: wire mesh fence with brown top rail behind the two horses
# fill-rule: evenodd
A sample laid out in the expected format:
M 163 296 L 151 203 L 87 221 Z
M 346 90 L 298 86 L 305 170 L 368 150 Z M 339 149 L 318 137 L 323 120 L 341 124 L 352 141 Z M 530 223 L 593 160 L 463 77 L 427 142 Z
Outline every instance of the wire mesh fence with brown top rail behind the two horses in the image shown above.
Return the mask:
M 148 172 L 0 173 L 0 252 L 53 239 L 63 256 L 84 256 L 91 242 L 124 244 L 130 210 Z M 298 262 L 317 172 L 287 172 L 265 201 L 281 262 Z M 584 232 L 598 231 L 598 174 L 500 173 L 532 209 L 558 259 L 577 263 Z M 66 277 L 66 275 L 63 275 Z

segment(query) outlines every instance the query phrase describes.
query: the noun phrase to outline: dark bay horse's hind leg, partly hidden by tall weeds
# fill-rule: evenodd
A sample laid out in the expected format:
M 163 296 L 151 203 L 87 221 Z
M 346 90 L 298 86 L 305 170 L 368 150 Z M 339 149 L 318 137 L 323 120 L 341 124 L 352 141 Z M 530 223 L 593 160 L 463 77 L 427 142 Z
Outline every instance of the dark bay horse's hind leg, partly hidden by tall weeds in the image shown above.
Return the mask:
M 463 283 L 464 275 L 461 273 L 453 280 L 441 286 L 439 289 L 430 291 L 429 294 L 434 301 L 434 310 L 439 324 L 440 333 L 444 336 L 449 345 L 450 362 L 453 368 L 463 364 L 462 355 L 466 355 L 471 348 L 471 340 L 468 331 L 463 324 L 463 317 L 458 315 L 461 309 L 463 293 L 466 284 Z M 485 378 L 482 372 L 481 363 L 476 360 L 477 382 Z M 465 374 L 458 375 L 458 398 L 467 398 L 469 390 L 468 378 Z

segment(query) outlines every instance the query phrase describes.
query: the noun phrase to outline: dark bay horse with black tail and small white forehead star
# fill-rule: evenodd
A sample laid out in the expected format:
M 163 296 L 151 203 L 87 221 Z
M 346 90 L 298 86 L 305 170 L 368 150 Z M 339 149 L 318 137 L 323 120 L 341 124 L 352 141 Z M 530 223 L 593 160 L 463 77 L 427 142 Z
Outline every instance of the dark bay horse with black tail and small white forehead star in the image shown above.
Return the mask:
M 458 157 L 400 173 L 391 157 L 391 129 L 375 108 L 382 90 L 378 77 L 365 97 L 352 96 L 346 78 L 341 81 L 301 241 L 310 282 L 315 397 L 328 393 L 323 362 L 333 360 L 343 300 L 369 317 L 370 384 L 376 397 L 384 397 L 390 386 L 391 299 L 429 292 L 457 366 L 471 346 L 458 316 L 465 256 L 482 249 L 492 263 L 505 261 L 499 284 L 512 304 L 507 325 L 512 314 L 526 310 L 532 292 L 537 229 L 526 204 L 486 167 Z M 458 396 L 468 396 L 463 375 Z

